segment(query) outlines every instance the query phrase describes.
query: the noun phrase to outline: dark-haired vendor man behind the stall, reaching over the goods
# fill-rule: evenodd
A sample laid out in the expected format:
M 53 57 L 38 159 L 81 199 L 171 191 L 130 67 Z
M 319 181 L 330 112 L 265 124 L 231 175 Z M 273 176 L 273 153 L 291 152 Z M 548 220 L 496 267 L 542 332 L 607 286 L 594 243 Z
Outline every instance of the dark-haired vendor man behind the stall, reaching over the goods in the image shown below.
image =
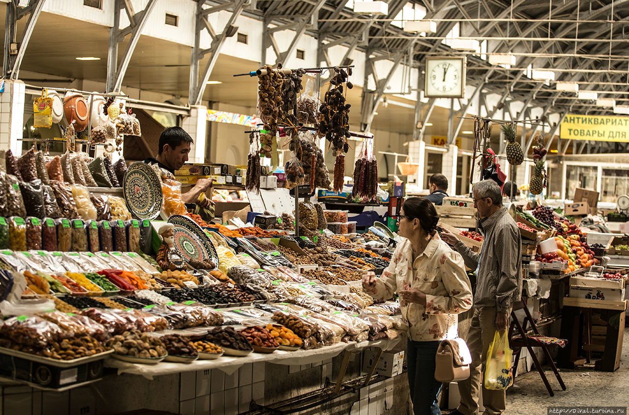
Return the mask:
M 144 163 L 157 164 L 160 168 L 170 171 L 173 175 L 175 170 L 182 168 L 188 161 L 190 145 L 193 143 L 192 137 L 182 127 L 169 127 L 162 131 L 159 136 L 159 151 L 156 158 L 147 158 Z M 200 207 L 208 207 L 212 204 L 209 198 L 198 202 L 199 195 L 212 187 L 214 179 L 200 178 L 196 185 L 181 197 L 184 203 L 197 203 Z

